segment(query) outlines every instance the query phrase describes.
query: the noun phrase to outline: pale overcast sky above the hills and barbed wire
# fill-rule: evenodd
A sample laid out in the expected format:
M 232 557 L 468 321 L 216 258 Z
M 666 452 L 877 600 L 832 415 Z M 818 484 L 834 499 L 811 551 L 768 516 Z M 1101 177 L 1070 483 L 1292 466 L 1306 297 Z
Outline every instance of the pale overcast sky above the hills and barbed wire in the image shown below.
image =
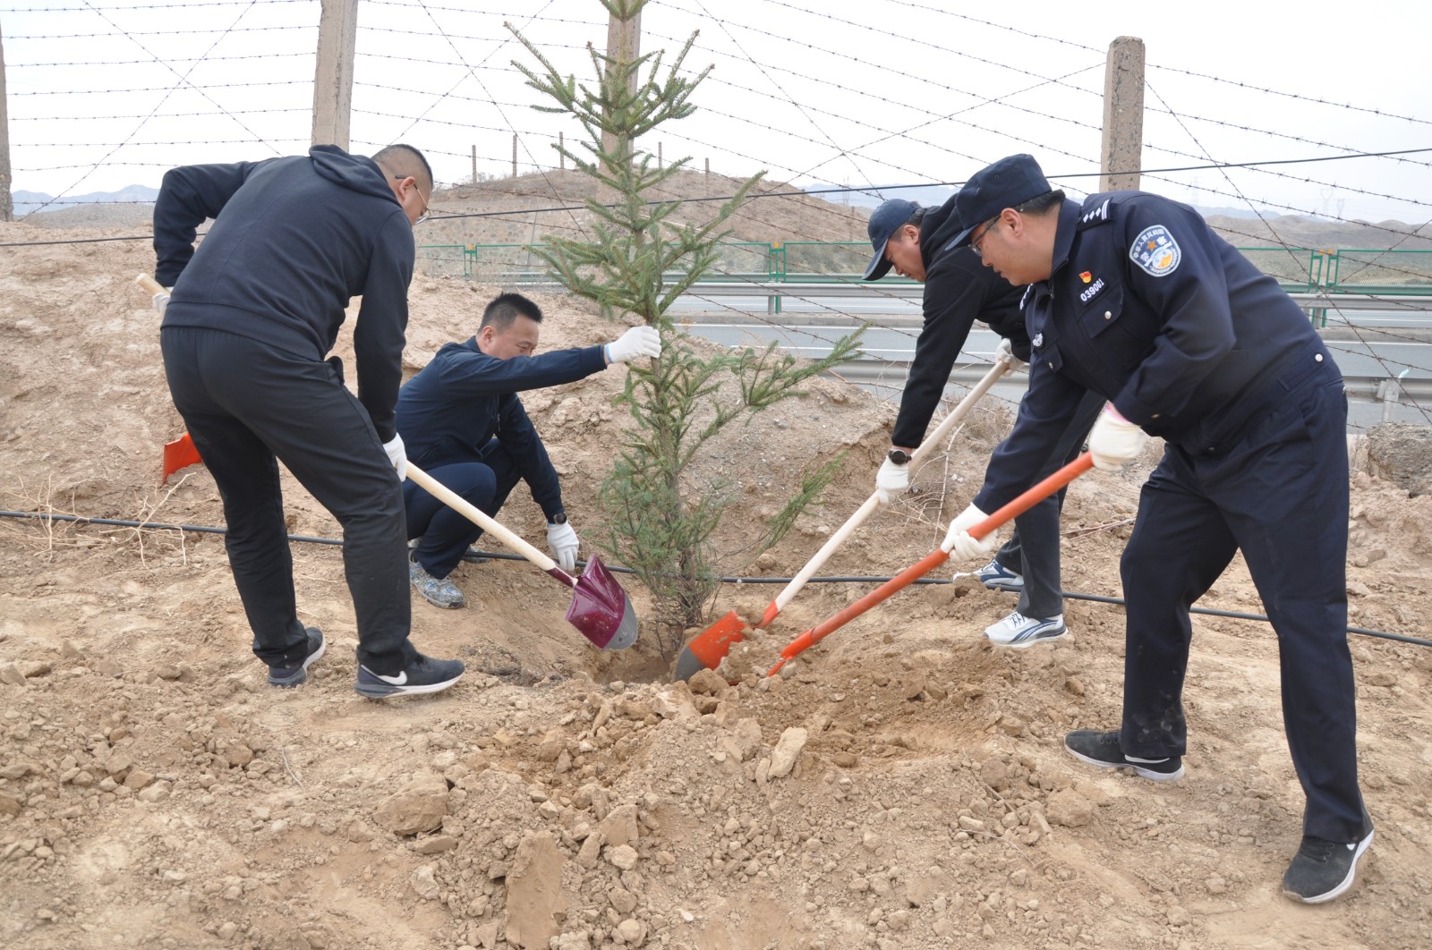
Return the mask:
M 315 0 L 0 1 L 13 186 L 153 186 L 176 163 L 306 149 L 318 14 Z M 606 43 L 596 0 L 364 0 L 352 149 L 410 142 L 457 182 L 474 145 L 481 175 L 508 175 L 516 132 L 520 172 L 556 166 L 550 143 L 579 129 L 531 109 L 541 99 L 511 67 L 531 57 L 507 19 L 579 79 L 591 74 L 583 46 Z M 697 169 L 874 187 L 959 182 L 1031 152 L 1057 185 L 1093 192 L 1106 53 L 1137 36 L 1143 187 L 1206 207 L 1432 219 L 1423 0 L 666 0 L 642 26 L 643 52 L 670 54 L 700 30 L 686 66 L 715 66 L 699 112 L 644 142 Z M 1153 172 L 1408 149 L 1428 150 Z

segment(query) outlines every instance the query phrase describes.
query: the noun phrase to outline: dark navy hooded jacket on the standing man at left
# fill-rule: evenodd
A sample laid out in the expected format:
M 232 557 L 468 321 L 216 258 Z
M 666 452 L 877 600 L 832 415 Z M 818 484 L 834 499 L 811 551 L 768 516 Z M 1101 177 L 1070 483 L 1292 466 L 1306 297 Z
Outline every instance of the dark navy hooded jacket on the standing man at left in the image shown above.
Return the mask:
M 213 226 L 193 249 L 199 225 Z M 308 156 L 188 165 L 155 200 L 155 279 L 173 288 L 163 326 L 200 326 L 324 359 L 348 300 L 358 399 L 392 439 L 412 279 L 412 225 L 371 159 Z

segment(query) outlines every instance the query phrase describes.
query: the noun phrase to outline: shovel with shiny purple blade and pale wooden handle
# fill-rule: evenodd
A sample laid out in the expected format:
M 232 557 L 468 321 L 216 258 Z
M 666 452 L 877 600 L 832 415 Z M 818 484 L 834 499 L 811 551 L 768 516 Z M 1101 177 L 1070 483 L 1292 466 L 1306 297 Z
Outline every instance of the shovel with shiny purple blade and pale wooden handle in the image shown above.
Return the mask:
M 557 567 L 556 561 L 493 521 L 475 505 L 412 462 L 408 462 L 408 478 L 444 505 L 570 587 L 571 604 L 567 607 L 567 622 L 580 630 L 581 635 L 593 645 L 601 650 L 626 650 L 636 642 L 637 618 L 636 611 L 632 609 L 632 599 L 597 555 L 587 558 L 587 567 L 581 577 L 574 578 Z

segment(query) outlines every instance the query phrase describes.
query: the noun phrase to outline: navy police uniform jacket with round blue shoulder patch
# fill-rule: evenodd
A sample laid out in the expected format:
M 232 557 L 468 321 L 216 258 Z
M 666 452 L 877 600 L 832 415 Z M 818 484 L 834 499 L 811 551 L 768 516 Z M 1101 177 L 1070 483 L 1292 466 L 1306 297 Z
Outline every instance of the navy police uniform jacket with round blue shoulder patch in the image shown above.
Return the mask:
M 1187 205 L 1147 192 L 1067 200 L 1053 263 L 1025 292 L 1030 389 L 981 511 L 1034 484 L 1085 391 L 1150 435 L 1220 455 L 1300 376 L 1332 366 L 1292 298 Z

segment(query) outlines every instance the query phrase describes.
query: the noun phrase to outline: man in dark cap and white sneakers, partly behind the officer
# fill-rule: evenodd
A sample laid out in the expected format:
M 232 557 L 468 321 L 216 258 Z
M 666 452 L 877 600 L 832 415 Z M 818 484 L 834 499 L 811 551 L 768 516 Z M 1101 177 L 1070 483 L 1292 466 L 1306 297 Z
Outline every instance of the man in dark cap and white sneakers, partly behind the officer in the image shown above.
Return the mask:
M 954 197 L 939 207 L 891 199 L 871 215 L 868 230 L 875 256 L 865 269 L 865 280 L 879 280 L 894 269 L 925 285 L 925 325 L 915 342 L 915 359 L 891 434 L 891 451 L 875 478 L 881 504 L 889 504 L 909 488 L 911 452 L 925 438 L 974 322 L 988 323 L 1001 336 L 995 358 L 1007 362 L 1030 358 L 1030 338 L 1020 310 L 1022 290 L 979 266 L 979 258 L 968 248 L 952 246 L 955 235 L 962 230 Z M 1103 401 L 1090 396 L 1087 403 L 1054 446 L 1044 474 L 1078 455 Z M 1020 595 L 1014 612 L 985 630 L 985 637 L 994 644 L 1032 647 L 1068 632 L 1060 589 L 1063 501 L 1064 492 L 1060 492 L 1020 515 L 1010 542 L 977 572 L 987 588 Z

